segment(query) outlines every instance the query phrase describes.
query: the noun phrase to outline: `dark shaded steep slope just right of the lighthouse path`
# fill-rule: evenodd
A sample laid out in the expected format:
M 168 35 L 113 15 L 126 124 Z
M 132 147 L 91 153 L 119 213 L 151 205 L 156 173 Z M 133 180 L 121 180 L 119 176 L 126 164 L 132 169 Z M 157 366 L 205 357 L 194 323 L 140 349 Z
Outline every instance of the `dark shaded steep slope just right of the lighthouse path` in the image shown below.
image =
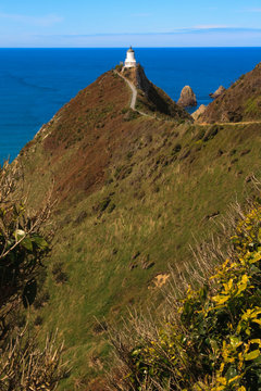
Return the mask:
M 184 109 L 178 106 L 162 89 L 148 80 L 140 65 L 136 68 L 124 68 L 123 75 L 138 89 L 137 110 L 192 122 L 191 116 Z

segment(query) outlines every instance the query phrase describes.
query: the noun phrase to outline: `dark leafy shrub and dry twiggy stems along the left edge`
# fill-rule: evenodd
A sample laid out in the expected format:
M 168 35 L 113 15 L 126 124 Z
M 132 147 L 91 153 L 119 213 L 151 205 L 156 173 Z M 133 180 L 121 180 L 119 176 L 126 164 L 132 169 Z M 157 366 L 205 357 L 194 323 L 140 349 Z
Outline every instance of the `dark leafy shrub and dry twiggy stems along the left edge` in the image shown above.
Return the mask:
M 49 338 L 39 350 L 20 317 L 22 304 L 28 308 L 36 299 L 37 277 L 48 251 L 39 229 L 49 205 L 28 216 L 23 202 L 13 198 L 14 177 L 15 169 L 4 164 L 0 171 L 0 390 L 51 391 L 66 374 L 60 365 L 62 349 L 55 351 L 55 338 Z

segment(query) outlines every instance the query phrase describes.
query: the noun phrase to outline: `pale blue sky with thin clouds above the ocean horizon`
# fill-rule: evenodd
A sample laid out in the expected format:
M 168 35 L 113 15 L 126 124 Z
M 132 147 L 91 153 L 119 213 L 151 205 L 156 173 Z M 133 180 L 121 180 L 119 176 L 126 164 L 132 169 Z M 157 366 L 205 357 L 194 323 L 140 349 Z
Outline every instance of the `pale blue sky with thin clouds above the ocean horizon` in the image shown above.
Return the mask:
M 259 0 L 0 0 L 0 47 L 261 46 Z

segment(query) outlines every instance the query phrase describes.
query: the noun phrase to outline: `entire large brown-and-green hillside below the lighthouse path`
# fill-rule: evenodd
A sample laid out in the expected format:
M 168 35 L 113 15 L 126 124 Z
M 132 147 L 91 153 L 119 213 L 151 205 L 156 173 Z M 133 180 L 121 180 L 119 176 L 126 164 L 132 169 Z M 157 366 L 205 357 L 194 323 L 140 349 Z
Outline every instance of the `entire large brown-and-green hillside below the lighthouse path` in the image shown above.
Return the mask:
M 73 369 L 64 391 L 104 390 L 107 326 L 127 307 L 160 305 L 170 265 L 182 270 L 188 245 L 216 231 L 260 176 L 257 124 L 194 125 L 182 109 L 165 121 L 129 110 L 129 101 L 124 79 L 102 75 L 14 162 L 32 209 L 50 189 L 55 201 L 30 320 L 41 335 L 58 327 L 65 340 Z

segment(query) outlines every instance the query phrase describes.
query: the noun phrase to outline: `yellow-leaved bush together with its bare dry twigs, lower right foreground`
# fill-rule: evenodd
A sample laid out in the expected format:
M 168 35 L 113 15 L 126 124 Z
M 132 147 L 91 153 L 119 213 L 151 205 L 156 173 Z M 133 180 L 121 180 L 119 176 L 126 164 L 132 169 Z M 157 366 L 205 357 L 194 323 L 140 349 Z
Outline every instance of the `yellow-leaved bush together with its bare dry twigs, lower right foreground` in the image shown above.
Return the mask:
M 261 389 L 261 204 L 235 204 L 219 236 L 176 267 L 164 312 L 110 330 L 108 390 Z M 154 314 L 154 312 L 153 312 Z

